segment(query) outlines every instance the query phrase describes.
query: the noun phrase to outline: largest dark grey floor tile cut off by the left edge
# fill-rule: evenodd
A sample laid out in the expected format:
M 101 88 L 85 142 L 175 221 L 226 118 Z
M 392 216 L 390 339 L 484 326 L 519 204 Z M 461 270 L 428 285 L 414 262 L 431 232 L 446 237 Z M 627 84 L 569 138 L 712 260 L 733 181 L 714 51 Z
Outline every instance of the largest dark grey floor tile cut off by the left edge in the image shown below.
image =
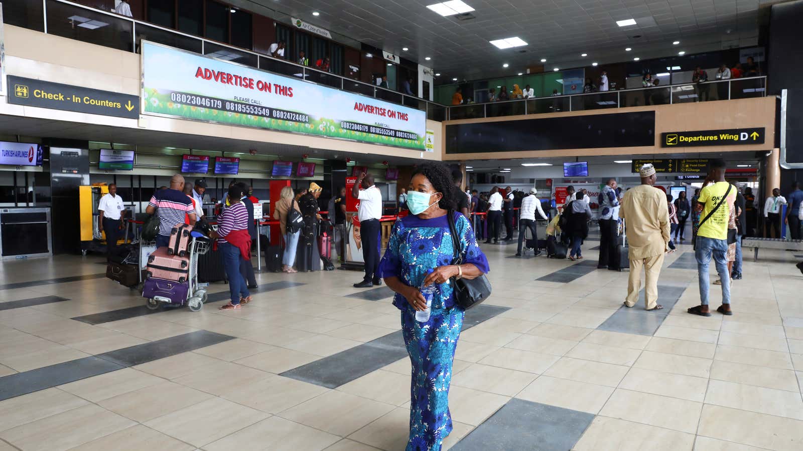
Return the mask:
M 120 364 L 99 359 L 96 356 L 70 360 L 63 364 L 36 368 L 0 377 L 0 400 L 7 400 L 26 393 L 39 392 L 46 388 L 98 376 L 124 368 Z

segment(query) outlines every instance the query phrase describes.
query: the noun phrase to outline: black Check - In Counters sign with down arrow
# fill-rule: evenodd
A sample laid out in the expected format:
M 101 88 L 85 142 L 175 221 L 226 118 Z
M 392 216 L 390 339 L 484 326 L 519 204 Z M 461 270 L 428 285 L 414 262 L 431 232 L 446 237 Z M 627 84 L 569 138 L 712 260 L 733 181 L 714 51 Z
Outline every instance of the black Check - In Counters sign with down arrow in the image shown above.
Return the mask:
M 139 119 L 137 95 L 8 76 L 8 103 Z

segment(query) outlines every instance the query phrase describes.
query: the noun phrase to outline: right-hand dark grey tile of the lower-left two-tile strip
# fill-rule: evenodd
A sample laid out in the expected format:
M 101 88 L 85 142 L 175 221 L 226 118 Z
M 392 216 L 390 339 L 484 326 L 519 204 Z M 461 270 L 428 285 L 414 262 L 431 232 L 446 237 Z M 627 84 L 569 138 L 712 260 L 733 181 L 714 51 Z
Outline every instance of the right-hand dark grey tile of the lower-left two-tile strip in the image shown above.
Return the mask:
M 217 334 L 210 331 L 194 331 L 183 335 L 176 335 L 150 343 L 137 344 L 124 347 L 116 351 L 98 354 L 103 360 L 108 360 L 123 367 L 145 364 L 151 360 L 163 359 L 181 354 L 181 352 L 194 351 L 201 347 L 211 346 L 233 339 L 230 335 Z

